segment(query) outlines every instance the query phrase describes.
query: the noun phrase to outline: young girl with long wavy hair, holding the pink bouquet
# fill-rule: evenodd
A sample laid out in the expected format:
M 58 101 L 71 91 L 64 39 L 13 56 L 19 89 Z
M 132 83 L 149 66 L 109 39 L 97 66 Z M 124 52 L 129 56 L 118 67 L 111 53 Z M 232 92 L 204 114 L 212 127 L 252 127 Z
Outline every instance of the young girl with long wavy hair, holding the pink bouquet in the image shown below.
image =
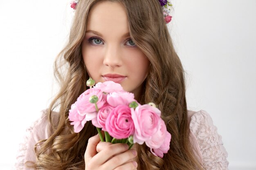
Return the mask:
M 209 114 L 187 110 L 184 70 L 173 48 L 163 0 L 80 0 L 67 46 L 55 62 L 60 90 L 30 128 L 17 169 L 226 170 L 227 152 Z M 170 17 L 169 17 L 170 19 Z M 71 105 L 95 82 L 112 80 L 154 102 L 171 133 L 170 150 L 154 156 L 143 144 L 100 142 L 87 122 L 74 132 Z M 58 108 L 58 111 L 54 111 Z

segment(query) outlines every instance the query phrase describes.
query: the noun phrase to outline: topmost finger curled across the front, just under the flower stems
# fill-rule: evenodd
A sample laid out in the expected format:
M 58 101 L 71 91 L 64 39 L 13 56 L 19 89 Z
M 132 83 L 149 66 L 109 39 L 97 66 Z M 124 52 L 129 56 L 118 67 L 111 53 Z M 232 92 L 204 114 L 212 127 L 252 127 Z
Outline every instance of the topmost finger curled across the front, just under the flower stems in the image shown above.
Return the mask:
M 92 162 L 97 163 L 98 165 L 101 165 L 108 161 L 108 159 L 112 158 L 113 155 L 120 154 L 122 152 L 125 152 L 129 149 L 129 146 L 127 144 L 112 144 L 105 149 L 101 150 L 97 155 L 92 157 Z M 111 169 L 111 168 L 107 168 Z

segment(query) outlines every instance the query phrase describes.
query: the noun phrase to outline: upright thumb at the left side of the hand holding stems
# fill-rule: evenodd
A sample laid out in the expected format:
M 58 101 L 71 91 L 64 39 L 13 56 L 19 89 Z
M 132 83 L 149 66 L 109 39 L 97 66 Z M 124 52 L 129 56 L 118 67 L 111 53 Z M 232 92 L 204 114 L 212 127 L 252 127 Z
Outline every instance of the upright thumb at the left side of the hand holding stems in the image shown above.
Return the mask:
M 101 134 L 104 135 L 104 132 L 102 133 L 101 131 Z M 89 138 L 88 144 L 85 150 L 85 155 L 84 155 L 86 160 L 91 159 L 92 157 L 94 157 L 94 155 L 97 154 L 96 147 L 97 147 L 97 144 L 99 144 L 99 141 L 101 141 L 99 134 Z

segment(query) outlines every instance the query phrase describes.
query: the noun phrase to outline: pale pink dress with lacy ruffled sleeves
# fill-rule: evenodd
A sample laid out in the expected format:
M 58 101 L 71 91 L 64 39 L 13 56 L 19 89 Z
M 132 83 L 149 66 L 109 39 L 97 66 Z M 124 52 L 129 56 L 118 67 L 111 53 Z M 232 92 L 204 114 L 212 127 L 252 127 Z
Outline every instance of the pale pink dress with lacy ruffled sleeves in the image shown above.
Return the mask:
M 57 120 L 58 114 L 54 113 L 54 115 Z M 188 117 L 190 140 L 198 160 L 207 170 L 228 170 L 227 151 L 210 115 L 204 110 L 198 112 L 188 110 Z M 40 119 L 27 129 L 25 142 L 20 144 L 15 170 L 31 170 L 24 166 L 24 162 L 36 160 L 34 145 L 37 141 L 49 137 L 47 126 L 46 110 L 42 110 Z

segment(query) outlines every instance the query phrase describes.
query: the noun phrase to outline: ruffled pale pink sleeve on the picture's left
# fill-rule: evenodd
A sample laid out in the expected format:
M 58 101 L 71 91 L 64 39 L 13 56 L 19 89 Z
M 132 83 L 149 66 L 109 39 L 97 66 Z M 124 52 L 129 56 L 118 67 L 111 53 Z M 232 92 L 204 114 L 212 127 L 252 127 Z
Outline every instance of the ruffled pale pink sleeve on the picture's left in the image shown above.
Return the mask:
M 36 154 L 34 152 L 34 145 L 43 139 L 48 138 L 47 130 L 47 110 L 40 112 L 40 118 L 34 122 L 32 126 L 27 128 L 23 143 L 19 145 L 18 155 L 14 170 L 30 170 L 24 164 L 26 161 L 36 161 Z

